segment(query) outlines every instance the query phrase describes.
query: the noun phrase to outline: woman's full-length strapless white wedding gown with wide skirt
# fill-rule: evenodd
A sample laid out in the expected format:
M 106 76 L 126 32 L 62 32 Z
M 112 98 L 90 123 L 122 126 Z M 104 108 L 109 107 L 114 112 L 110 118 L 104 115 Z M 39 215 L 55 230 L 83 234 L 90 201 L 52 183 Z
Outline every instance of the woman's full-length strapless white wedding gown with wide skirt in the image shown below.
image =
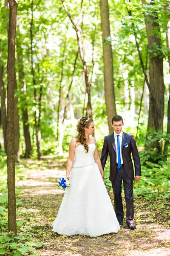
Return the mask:
M 96 145 L 92 143 L 88 146 L 88 153 L 83 145 L 75 149 L 70 187 L 65 190 L 53 223 L 53 231 L 62 235 L 84 234 L 96 237 L 117 233 L 120 229 L 111 199 L 94 161 Z

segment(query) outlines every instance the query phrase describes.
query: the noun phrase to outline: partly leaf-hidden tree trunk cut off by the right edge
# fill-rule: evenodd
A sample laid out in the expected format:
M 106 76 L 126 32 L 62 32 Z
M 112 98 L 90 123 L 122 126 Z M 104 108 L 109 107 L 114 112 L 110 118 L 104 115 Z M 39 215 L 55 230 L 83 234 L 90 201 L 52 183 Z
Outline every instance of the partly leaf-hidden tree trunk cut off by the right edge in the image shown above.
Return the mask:
M 168 63 L 169 63 L 169 72 L 170 72 L 170 21 L 168 21 L 166 27 L 167 27 L 166 42 L 167 42 Z M 167 134 L 170 134 L 170 85 L 169 85 L 169 99 L 168 99 L 168 105 L 167 105 Z M 169 144 L 169 140 L 166 140 L 164 144 L 165 160 L 167 160 L 168 144 Z

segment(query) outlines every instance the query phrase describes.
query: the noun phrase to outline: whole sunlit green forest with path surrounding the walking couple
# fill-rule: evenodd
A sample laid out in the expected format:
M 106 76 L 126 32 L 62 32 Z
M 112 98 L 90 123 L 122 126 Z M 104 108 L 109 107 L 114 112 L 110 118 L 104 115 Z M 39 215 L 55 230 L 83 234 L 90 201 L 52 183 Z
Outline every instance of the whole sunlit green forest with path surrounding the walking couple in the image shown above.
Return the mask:
M 77 121 L 101 155 L 116 114 L 141 159 L 136 230 L 52 232 Z M 0 255 L 170 255 L 169 151 L 170 0 L 0 0 Z

